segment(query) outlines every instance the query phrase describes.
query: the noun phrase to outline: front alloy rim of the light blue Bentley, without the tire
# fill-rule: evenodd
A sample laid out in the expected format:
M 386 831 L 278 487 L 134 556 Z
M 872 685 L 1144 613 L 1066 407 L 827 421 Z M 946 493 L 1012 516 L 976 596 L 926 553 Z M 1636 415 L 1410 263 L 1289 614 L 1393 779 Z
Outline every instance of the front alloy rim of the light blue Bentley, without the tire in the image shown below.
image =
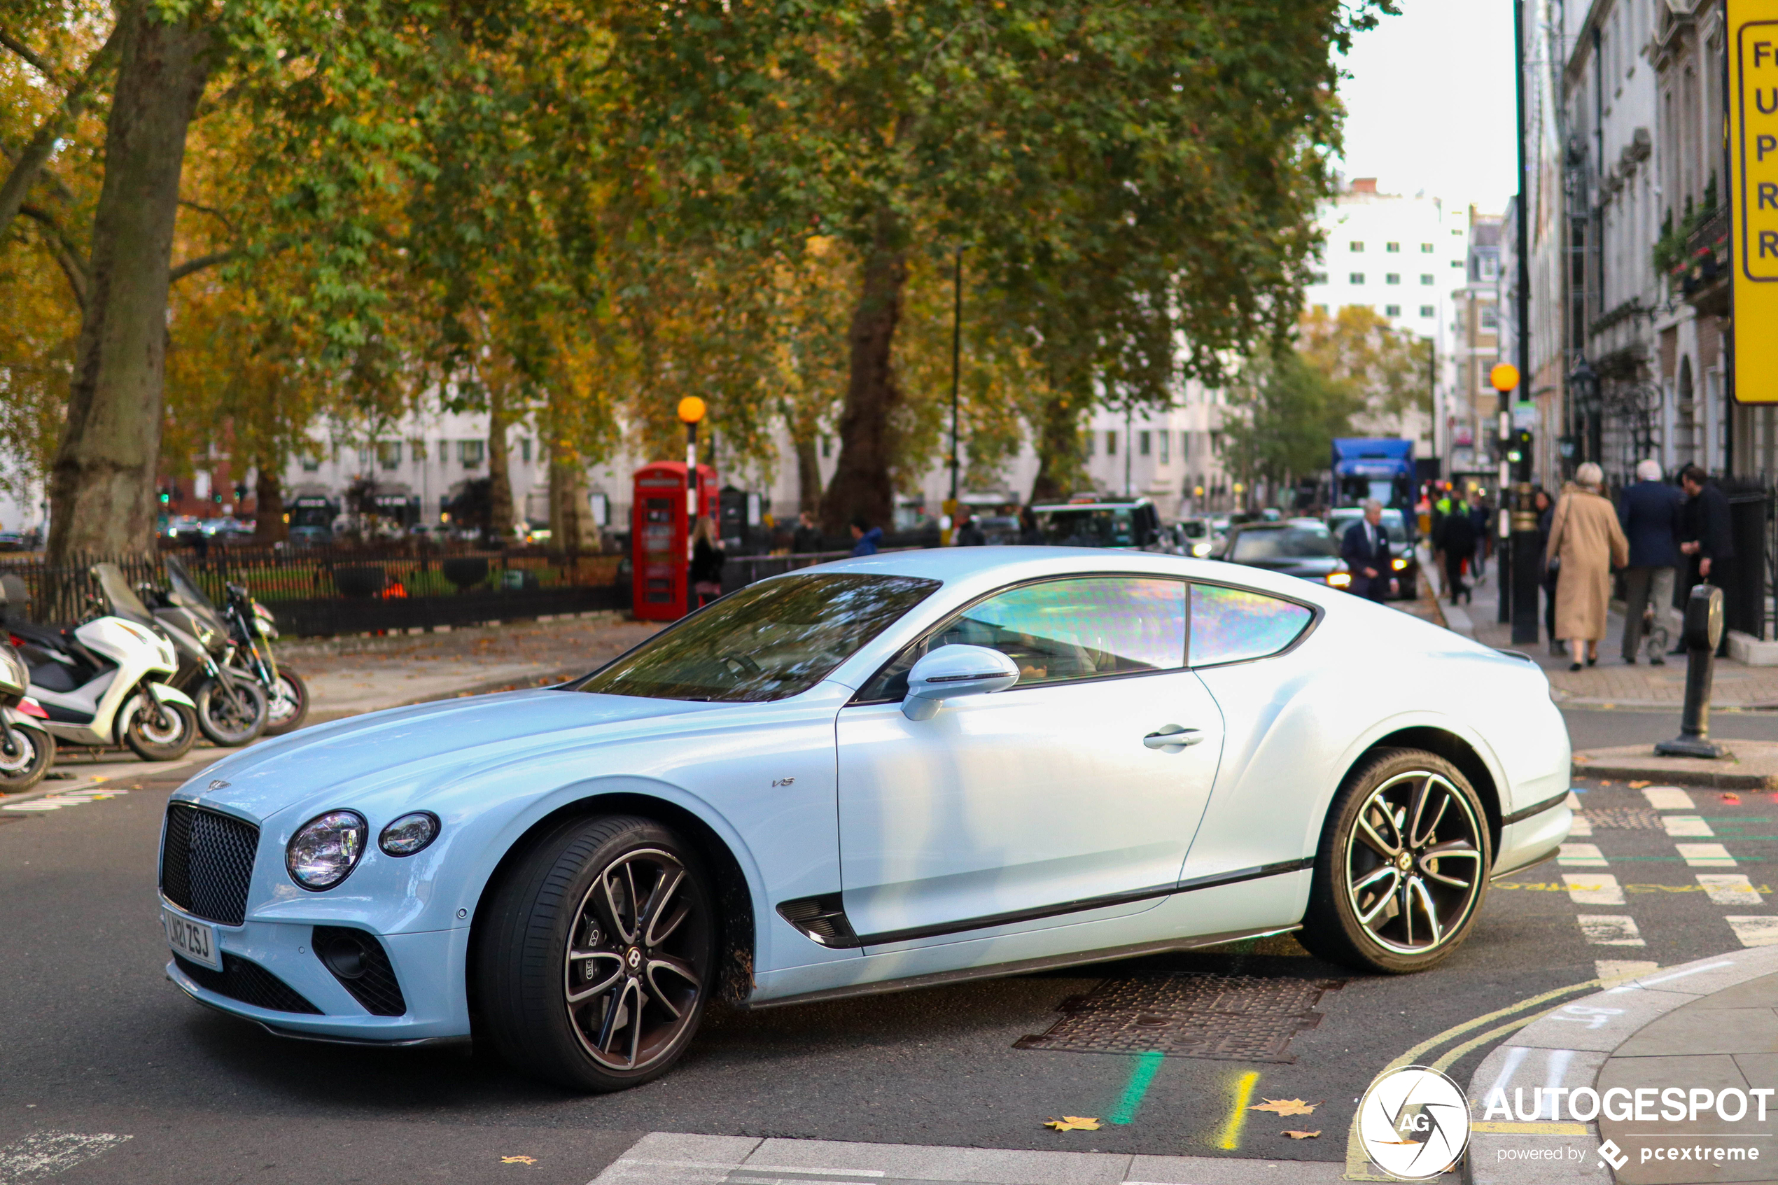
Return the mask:
M 569 929 L 564 995 L 596 1062 L 645 1070 L 697 1023 L 709 945 L 702 910 L 690 871 L 658 847 L 628 851 L 594 878 Z

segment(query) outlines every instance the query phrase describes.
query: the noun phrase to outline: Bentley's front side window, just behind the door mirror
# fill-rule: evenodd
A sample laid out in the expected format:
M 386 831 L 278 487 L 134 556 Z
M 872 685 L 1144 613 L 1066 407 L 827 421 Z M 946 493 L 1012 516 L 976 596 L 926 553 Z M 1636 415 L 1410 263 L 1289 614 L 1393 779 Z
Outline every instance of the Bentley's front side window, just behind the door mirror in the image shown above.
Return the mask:
M 926 652 L 953 643 L 999 650 L 1019 664 L 1021 688 L 1181 670 L 1186 586 L 1140 576 L 1093 576 L 1008 588 L 903 650 L 859 698 L 900 700 L 907 695 L 909 668 Z

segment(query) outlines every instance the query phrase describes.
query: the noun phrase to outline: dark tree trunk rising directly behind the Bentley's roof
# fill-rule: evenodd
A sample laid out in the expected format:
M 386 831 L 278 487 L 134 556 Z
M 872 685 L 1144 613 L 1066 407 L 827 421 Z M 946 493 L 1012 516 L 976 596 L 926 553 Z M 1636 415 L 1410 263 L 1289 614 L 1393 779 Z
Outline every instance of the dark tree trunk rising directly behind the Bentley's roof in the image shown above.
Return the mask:
M 821 496 L 821 529 L 845 537 L 853 517 L 889 529 L 894 521 L 891 416 L 901 403 L 894 382 L 894 330 L 907 286 L 907 245 L 894 215 L 877 220 L 877 242 L 864 261 L 864 282 L 846 341 L 852 371 L 839 416 L 839 462 Z

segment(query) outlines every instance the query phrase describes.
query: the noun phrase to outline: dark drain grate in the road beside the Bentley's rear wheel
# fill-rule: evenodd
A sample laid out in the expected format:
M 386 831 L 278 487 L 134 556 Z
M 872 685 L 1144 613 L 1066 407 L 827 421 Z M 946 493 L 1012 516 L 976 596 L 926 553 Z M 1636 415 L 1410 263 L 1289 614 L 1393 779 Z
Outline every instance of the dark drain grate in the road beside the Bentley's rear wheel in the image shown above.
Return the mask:
M 1291 1038 L 1321 1023 L 1314 1011 L 1321 993 L 1342 986 L 1344 979 L 1198 972 L 1108 979 L 1063 1000 L 1056 1023 L 1013 1048 L 1287 1062 Z

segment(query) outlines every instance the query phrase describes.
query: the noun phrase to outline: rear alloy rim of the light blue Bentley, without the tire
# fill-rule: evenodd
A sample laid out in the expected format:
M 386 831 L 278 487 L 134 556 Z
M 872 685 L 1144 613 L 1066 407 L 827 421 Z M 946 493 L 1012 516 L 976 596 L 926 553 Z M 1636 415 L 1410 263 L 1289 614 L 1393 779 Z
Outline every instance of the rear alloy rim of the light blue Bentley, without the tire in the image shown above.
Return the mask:
M 1426 954 L 1458 933 L 1485 885 L 1481 826 L 1438 773 L 1399 773 L 1371 791 L 1344 853 L 1366 934 L 1396 954 Z

